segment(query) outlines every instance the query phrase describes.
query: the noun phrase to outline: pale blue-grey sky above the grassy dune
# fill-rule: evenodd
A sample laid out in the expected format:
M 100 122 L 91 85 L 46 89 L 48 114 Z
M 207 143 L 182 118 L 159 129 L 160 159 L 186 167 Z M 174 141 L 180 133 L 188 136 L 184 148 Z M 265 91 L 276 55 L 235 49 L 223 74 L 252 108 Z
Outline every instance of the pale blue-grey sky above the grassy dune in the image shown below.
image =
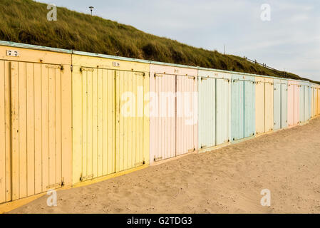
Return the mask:
M 320 81 L 319 0 L 40 0 Z M 270 20 L 262 21 L 262 4 Z M 265 15 L 265 14 L 264 14 Z

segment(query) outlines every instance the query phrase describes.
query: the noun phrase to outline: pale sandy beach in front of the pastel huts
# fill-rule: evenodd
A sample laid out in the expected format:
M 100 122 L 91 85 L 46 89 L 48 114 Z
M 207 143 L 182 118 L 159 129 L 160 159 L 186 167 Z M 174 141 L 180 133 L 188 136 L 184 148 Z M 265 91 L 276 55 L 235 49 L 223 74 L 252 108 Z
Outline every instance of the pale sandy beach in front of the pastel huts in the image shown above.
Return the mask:
M 320 213 L 320 118 L 43 196 L 11 213 Z M 262 207 L 261 191 L 271 191 Z

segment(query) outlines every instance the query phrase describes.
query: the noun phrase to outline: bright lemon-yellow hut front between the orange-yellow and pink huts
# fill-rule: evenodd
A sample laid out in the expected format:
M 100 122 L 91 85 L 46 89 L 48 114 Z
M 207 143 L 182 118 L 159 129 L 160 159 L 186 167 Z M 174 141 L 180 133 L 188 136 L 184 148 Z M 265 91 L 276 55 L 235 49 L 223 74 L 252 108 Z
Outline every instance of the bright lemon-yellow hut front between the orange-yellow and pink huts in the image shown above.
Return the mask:
M 72 58 L 73 184 L 149 164 L 148 64 Z

